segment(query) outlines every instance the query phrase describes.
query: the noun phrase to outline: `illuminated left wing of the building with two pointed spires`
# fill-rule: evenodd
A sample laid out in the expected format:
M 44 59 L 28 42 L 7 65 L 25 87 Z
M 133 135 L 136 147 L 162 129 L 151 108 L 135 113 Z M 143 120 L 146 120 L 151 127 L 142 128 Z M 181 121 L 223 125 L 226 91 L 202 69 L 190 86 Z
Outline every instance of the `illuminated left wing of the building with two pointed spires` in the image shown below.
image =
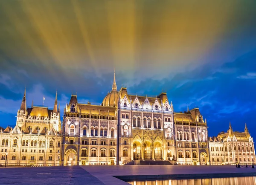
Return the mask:
M 6 127 L 0 133 L 0 164 L 5 165 L 59 165 L 61 151 L 61 121 L 54 108 L 33 105 L 26 107 L 26 90 L 14 128 Z

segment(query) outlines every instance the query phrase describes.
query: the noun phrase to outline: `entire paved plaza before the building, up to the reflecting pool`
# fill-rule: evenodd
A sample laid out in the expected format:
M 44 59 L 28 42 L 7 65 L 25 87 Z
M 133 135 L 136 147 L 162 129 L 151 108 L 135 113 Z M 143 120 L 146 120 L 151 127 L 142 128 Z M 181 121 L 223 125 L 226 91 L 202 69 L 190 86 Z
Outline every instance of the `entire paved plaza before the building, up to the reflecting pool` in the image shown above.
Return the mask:
M 0 184 L 45 185 L 128 185 L 119 178 L 195 178 L 256 176 L 256 168 L 235 166 L 60 166 L 32 168 L 0 168 Z

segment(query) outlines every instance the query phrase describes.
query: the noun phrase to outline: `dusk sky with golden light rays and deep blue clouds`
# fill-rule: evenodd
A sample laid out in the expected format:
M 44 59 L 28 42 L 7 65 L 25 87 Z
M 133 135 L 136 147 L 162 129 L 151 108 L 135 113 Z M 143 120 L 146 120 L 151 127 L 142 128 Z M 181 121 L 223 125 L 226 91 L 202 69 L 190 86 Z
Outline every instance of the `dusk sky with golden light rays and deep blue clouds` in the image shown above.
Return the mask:
M 0 126 L 27 105 L 61 114 L 71 93 L 101 104 L 118 90 L 158 95 L 175 112 L 199 107 L 209 136 L 256 137 L 255 0 L 0 1 Z

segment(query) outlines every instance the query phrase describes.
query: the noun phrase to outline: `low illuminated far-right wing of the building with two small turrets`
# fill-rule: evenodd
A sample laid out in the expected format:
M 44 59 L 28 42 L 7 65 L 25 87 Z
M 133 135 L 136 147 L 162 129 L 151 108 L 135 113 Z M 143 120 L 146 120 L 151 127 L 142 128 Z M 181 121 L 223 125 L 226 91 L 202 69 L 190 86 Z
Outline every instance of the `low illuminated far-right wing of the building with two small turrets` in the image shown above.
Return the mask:
M 226 133 L 209 138 L 212 165 L 251 165 L 255 162 L 253 138 L 245 124 L 244 132 L 233 132 L 229 127 Z

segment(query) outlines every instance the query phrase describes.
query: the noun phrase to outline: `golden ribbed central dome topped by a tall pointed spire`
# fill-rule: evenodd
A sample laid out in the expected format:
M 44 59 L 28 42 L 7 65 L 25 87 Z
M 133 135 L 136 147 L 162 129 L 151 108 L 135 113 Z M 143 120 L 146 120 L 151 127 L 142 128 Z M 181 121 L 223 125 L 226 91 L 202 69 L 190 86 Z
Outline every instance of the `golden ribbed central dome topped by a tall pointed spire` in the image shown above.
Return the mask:
M 114 81 L 112 85 L 112 90 L 110 93 L 106 95 L 106 97 L 102 101 L 103 106 L 114 106 L 117 104 L 117 86 L 116 86 L 116 71 L 114 72 Z

